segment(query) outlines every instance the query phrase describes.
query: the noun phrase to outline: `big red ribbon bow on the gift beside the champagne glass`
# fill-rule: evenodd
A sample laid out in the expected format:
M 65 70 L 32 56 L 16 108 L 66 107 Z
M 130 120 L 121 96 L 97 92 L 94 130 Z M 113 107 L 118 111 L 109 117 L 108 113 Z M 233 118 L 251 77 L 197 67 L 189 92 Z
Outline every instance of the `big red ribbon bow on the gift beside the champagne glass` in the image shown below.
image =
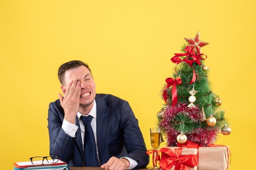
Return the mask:
M 168 155 L 167 159 L 159 161 L 159 165 L 162 170 L 170 170 L 175 166 L 174 170 L 190 170 L 189 167 L 194 167 L 198 165 L 198 160 L 195 155 L 181 155 L 182 148 L 177 148 L 173 150 L 169 148 L 161 148 L 158 154 Z

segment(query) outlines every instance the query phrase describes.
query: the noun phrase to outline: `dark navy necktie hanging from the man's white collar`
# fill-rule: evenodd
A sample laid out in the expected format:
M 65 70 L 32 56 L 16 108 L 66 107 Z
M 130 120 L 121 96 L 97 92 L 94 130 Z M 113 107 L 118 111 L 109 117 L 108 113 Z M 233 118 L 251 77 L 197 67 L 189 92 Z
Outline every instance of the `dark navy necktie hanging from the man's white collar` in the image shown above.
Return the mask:
M 83 142 L 85 166 L 99 166 L 96 143 L 91 126 L 92 116 L 81 116 L 80 119 L 85 125 L 85 136 Z

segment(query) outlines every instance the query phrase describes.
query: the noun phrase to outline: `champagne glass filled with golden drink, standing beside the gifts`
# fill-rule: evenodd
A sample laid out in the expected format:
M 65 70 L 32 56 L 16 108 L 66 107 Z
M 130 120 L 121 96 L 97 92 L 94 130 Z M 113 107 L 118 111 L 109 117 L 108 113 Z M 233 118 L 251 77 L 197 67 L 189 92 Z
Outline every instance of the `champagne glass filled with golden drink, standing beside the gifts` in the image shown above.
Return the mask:
M 156 156 L 157 156 L 157 149 L 160 146 L 160 136 L 161 136 L 161 129 L 160 128 L 150 128 L 150 139 L 151 139 L 151 146 L 152 148 L 155 150 L 155 152 L 153 153 L 153 157 L 154 157 L 154 168 L 152 168 L 151 170 L 160 170 L 159 168 L 157 168 L 157 160 L 156 160 Z

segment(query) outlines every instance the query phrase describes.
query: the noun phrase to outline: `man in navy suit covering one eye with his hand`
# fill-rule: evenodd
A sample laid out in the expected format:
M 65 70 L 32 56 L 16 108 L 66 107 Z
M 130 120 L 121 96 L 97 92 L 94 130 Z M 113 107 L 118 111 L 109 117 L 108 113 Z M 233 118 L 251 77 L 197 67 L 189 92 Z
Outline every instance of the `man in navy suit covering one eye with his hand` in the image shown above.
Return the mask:
M 50 155 L 58 155 L 68 166 L 105 170 L 148 165 L 145 142 L 128 102 L 96 94 L 91 70 L 82 61 L 61 65 L 58 78 L 64 97 L 58 94 L 49 105 Z

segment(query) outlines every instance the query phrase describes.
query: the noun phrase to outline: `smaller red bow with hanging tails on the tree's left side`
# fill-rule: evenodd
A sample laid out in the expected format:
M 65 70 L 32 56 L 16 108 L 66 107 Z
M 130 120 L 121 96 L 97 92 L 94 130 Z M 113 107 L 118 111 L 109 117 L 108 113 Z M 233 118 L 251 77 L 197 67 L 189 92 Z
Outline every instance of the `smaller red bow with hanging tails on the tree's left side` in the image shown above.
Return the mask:
M 164 101 L 166 102 L 167 104 L 167 91 L 166 89 L 169 88 L 171 85 L 173 85 L 173 89 L 172 89 L 172 99 L 173 99 L 173 107 L 176 105 L 177 101 L 178 101 L 178 96 L 177 96 L 177 87 L 176 85 L 180 85 L 181 84 L 181 78 L 180 77 L 177 77 L 175 79 L 173 78 L 166 78 L 166 87 L 165 87 L 165 90 L 164 90 Z

